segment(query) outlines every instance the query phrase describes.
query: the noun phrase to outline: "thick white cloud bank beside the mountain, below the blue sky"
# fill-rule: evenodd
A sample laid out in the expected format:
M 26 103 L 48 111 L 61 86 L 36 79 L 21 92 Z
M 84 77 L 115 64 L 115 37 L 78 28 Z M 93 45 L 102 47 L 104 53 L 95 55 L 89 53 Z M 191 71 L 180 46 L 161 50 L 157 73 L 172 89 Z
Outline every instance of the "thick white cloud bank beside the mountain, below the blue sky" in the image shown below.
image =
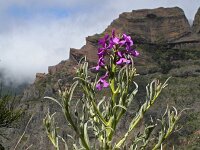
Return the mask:
M 44 18 L 43 18 L 44 19 Z M 82 24 L 82 27 L 80 27 Z M 68 58 L 70 47 L 80 48 L 94 33 L 82 19 L 32 20 L 0 35 L 0 69 L 13 82 L 32 81 L 36 72 Z

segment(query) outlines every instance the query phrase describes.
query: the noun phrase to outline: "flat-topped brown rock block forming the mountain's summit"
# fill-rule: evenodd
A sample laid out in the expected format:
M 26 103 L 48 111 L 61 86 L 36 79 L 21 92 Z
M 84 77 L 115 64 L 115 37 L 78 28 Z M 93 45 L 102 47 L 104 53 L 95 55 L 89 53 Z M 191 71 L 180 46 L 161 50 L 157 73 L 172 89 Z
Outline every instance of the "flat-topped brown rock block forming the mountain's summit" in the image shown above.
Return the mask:
M 122 13 L 106 29 L 116 28 L 144 43 L 170 42 L 190 33 L 190 25 L 182 9 L 157 8 Z

